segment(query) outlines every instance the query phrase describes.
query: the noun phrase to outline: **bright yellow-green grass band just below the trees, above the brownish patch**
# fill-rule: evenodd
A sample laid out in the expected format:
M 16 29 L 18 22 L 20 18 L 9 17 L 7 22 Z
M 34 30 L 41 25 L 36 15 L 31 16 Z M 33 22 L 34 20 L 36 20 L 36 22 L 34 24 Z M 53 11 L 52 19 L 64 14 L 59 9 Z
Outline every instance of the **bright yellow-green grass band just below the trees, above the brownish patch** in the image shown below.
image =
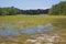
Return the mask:
M 66 15 L 0 15 L 0 23 L 43 24 L 55 19 L 66 19 Z

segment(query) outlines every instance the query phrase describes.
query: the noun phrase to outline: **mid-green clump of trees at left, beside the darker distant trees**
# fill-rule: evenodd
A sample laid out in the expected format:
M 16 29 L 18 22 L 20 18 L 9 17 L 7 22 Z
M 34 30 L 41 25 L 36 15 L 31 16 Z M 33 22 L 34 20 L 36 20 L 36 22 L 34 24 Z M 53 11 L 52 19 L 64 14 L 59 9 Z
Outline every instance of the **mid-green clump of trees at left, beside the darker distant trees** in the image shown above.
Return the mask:
M 14 15 L 20 14 L 20 10 L 11 7 L 11 8 L 0 8 L 0 15 Z

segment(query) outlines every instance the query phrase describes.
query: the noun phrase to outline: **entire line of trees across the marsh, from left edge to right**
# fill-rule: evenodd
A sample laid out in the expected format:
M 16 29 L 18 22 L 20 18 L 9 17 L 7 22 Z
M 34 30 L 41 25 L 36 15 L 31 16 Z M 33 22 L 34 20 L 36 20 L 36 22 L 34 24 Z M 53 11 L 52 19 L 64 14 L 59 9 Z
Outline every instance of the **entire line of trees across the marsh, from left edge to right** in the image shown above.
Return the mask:
M 66 1 L 54 4 L 51 9 L 21 10 L 14 7 L 0 8 L 0 15 L 16 15 L 16 14 L 64 14 L 66 15 Z

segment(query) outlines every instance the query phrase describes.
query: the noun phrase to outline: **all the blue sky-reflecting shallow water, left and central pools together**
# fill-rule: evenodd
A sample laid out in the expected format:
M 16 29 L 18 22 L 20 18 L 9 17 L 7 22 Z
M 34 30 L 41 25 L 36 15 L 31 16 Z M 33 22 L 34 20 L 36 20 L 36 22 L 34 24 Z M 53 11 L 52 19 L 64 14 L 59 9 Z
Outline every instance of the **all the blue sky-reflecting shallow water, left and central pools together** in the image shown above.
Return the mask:
M 0 35 L 19 35 L 21 33 L 44 33 L 53 30 L 53 25 L 51 23 L 46 23 L 44 25 L 32 25 L 29 28 L 20 29 L 19 31 L 14 31 L 15 25 L 12 24 L 0 24 Z M 21 26 L 22 28 L 22 26 Z

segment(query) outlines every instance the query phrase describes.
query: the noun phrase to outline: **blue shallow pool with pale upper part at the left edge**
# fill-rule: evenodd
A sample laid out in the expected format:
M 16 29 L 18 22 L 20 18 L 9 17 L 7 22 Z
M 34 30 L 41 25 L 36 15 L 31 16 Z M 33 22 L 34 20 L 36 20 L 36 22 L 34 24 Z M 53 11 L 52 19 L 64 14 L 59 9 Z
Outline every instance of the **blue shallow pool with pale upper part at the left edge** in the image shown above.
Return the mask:
M 13 30 L 13 26 L 11 24 L 0 24 L 0 28 L 1 28 L 0 35 L 18 35 L 18 34 L 20 34 L 18 31 Z

